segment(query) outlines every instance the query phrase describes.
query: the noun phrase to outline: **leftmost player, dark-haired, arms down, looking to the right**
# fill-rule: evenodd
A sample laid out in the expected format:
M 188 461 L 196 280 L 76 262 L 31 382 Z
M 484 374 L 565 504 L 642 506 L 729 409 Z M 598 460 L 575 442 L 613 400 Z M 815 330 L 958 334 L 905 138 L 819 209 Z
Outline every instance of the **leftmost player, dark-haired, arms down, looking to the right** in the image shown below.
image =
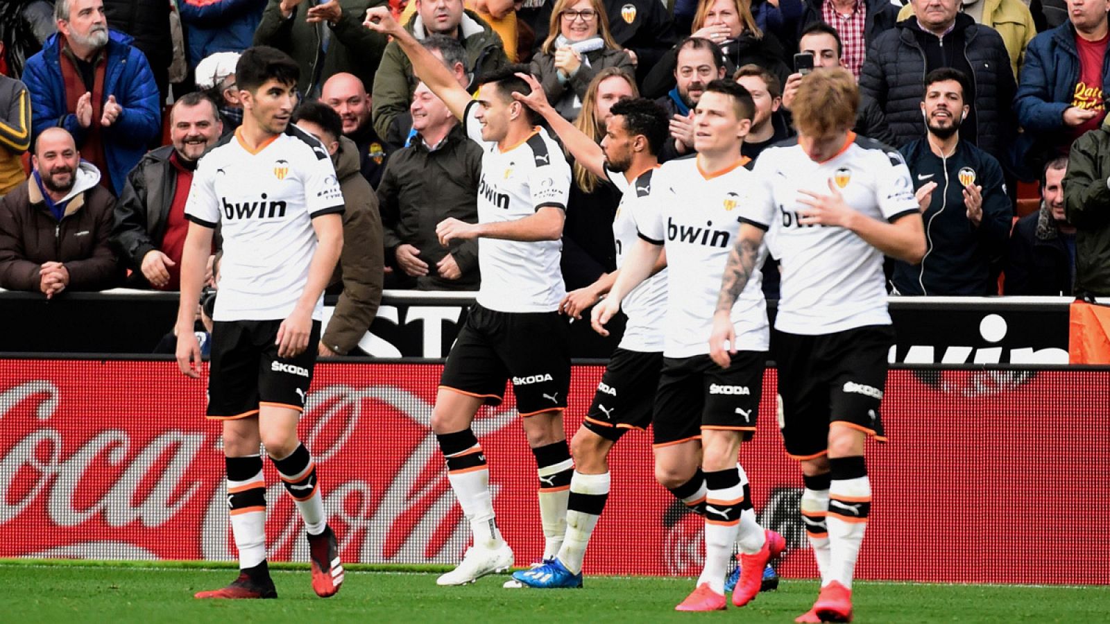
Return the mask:
M 324 286 L 343 246 L 343 195 L 327 151 L 289 122 L 297 74 L 284 52 L 243 52 L 235 67 L 243 124 L 201 158 L 185 203 L 176 356 L 191 378 L 199 376 L 201 361 L 193 334 L 201 281 L 216 225 L 223 234 L 208 417 L 223 426 L 240 566 L 231 585 L 199 598 L 278 596 L 266 567 L 260 442 L 304 520 L 312 588 L 327 597 L 343 583 L 315 464 L 296 435 L 316 361 Z

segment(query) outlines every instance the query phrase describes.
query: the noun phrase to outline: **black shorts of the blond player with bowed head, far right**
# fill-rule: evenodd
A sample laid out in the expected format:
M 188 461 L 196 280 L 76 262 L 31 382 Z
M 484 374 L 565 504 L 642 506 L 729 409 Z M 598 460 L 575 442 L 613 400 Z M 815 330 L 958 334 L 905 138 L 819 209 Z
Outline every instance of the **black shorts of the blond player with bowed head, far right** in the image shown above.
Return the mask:
M 829 424 L 840 423 L 885 441 L 879 403 L 887 381 L 890 325 L 824 335 L 775 331 L 779 426 L 786 452 L 809 460 L 828 451 Z

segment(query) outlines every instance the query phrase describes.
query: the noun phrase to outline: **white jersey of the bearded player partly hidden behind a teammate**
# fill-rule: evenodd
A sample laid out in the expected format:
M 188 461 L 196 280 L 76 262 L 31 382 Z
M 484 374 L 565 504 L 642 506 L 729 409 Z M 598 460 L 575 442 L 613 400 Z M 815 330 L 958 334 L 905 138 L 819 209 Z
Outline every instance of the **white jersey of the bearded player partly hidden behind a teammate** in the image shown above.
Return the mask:
M 606 175 L 620 189 L 620 203 L 613 219 L 613 242 L 617 248 L 617 269 L 624 265 L 632 245 L 639 240 L 633 213 L 638 202 L 648 201 L 655 169 L 637 175 L 629 184 L 624 173 L 606 170 Z M 656 353 L 663 351 L 663 323 L 667 312 L 667 270 L 664 269 L 640 282 L 625 295 L 620 308 L 628 316 L 620 349 Z

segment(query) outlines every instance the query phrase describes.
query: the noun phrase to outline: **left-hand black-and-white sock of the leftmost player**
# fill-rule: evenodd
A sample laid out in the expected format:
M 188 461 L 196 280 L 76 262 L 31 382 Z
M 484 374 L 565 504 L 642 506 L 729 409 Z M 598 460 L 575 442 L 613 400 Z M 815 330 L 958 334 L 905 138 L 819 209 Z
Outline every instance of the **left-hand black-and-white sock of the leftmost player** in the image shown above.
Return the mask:
M 262 476 L 262 456 L 224 457 L 224 466 L 239 567 L 251 571 L 266 561 L 266 481 Z

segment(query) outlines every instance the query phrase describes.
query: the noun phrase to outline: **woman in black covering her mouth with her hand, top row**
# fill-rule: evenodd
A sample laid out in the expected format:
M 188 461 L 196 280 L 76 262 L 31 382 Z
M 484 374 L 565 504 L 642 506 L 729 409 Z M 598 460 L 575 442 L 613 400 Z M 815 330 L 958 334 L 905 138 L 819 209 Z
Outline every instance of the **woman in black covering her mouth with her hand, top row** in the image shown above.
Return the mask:
M 790 73 L 784 62 L 786 49 L 774 34 L 759 30 L 746 0 L 702 0 L 690 37 L 720 47 L 728 76 L 738 67 L 757 64 L 775 74 L 781 84 Z M 665 54 L 644 79 L 644 93 L 648 98 L 658 98 L 675 85 L 677 50 Z

